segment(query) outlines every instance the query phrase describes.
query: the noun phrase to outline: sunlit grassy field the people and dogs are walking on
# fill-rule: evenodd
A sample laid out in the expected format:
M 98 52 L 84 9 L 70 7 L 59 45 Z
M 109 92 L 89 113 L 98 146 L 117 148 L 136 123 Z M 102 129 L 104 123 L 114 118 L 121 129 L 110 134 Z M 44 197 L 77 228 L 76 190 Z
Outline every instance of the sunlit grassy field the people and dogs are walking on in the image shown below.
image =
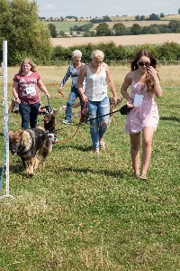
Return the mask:
M 67 67 L 38 67 L 59 108 L 58 83 Z M 44 169 L 32 178 L 23 173 L 18 157 L 10 154 L 9 198 L 0 201 L 0 270 L 32 271 L 177 271 L 179 270 L 179 70 L 160 66 L 163 97 L 157 99 L 160 122 L 154 136 L 148 182 L 133 177 L 130 139 L 125 118 L 115 114 L 107 130 L 107 147 L 92 152 L 89 125 L 66 144 L 54 145 Z M 129 67 L 111 67 L 118 97 Z M 8 69 L 8 98 L 18 67 Z M 170 89 L 169 89 L 170 87 Z M 70 79 L 64 87 L 67 97 Z M 1 100 L 2 99 L 2 85 Z M 42 96 L 41 96 L 42 97 Z M 46 105 L 45 98 L 42 106 Z M 2 119 L 2 113 L 1 113 Z M 58 140 L 76 131 L 78 119 L 61 124 L 56 117 Z M 43 125 L 43 117 L 39 117 Z M 11 114 L 9 128 L 21 126 Z M 3 121 L 1 122 L 3 131 Z M 1 161 L 4 136 L 1 140 Z M 4 182 L 1 194 L 4 194 Z

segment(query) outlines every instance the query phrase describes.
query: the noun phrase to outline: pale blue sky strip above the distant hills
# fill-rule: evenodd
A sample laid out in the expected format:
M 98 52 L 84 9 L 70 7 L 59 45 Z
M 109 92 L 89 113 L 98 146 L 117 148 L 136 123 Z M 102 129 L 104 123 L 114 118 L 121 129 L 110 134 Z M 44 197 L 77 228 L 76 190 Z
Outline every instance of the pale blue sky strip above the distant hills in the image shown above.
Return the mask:
M 178 0 L 36 0 L 44 17 L 178 14 Z

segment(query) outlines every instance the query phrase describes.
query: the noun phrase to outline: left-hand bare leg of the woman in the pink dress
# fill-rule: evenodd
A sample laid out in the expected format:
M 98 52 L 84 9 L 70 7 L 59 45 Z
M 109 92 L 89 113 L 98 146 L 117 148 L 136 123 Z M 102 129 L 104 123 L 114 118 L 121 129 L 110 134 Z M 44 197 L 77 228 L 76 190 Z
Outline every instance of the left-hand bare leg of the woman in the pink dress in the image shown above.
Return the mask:
M 139 174 L 139 148 L 140 148 L 140 132 L 130 134 L 130 154 L 132 161 L 132 169 L 135 174 Z

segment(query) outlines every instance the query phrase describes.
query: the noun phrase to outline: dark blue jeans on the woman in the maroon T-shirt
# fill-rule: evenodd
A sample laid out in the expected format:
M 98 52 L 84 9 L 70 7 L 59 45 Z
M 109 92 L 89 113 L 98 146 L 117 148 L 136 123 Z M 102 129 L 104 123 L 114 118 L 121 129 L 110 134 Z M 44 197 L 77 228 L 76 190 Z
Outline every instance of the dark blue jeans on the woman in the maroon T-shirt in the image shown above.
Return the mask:
M 21 103 L 19 105 L 20 114 L 22 115 L 23 130 L 28 129 L 29 125 L 31 128 L 35 128 L 37 126 L 37 117 L 38 117 L 39 107 L 40 107 L 40 103 L 36 103 L 33 105 Z

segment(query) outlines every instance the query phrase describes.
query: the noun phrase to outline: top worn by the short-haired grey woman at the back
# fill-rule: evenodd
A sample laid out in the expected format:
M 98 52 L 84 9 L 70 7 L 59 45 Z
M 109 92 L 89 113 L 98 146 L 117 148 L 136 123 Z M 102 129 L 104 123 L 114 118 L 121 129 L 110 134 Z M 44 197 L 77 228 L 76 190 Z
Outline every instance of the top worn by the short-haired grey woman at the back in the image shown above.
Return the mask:
M 77 88 L 77 79 L 78 79 L 78 75 L 79 75 L 79 71 L 81 70 L 81 68 L 84 66 L 84 63 L 81 63 L 81 66 L 79 66 L 77 69 L 75 69 L 74 64 L 70 64 L 70 66 L 67 68 L 67 72 L 65 74 L 65 77 L 62 79 L 62 81 L 60 82 L 60 87 L 63 87 L 67 81 L 67 79 L 71 76 L 72 79 L 72 87 L 76 87 Z

